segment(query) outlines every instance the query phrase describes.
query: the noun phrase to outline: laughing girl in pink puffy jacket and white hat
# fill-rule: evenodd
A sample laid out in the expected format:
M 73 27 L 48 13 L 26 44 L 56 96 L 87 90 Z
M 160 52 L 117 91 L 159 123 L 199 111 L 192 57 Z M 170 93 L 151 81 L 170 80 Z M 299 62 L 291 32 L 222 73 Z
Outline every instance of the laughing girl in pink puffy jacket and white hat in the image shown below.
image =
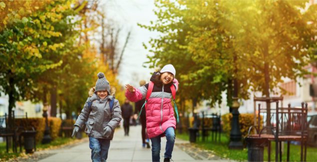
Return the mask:
M 154 72 L 150 81 L 154 83 L 152 93 L 145 105 L 146 129 L 152 142 L 152 161 L 160 161 L 161 137 L 166 136 L 164 162 L 169 162 L 175 142 L 176 120 L 171 104 L 172 88 L 178 90 L 178 81 L 175 79 L 176 70 L 173 65 L 165 65 L 159 72 Z M 146 97 L 149 83 L 134 88 L 127 84 L 125 96 L 132 102 Z

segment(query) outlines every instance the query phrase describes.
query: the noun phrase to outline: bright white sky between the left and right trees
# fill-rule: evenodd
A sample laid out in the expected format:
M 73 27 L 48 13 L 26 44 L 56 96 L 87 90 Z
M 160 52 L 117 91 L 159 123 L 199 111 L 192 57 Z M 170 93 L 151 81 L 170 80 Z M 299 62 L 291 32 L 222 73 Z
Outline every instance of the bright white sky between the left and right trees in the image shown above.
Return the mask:
M 149 52 L 144 49 L 142 43 L 147 43 L 151 37 L 157 37 L 157 32 L 150 32 L 141 28 L 137 23 L 150 24 L 156 16 L 153 12 L 154 0 L 107 0 L 104 2 L 106 15 L 113 19 L 121 27 L 119 48 L 122 49 L 127 33 L 131 35 L 123 54 L 118 79 L 121 84 L 139 86 L 139 80 L 149 81 L 153 71 L 144 68 L 142 64 L 148 59 Z M 121 52 L 121 50 L 120 50 Z

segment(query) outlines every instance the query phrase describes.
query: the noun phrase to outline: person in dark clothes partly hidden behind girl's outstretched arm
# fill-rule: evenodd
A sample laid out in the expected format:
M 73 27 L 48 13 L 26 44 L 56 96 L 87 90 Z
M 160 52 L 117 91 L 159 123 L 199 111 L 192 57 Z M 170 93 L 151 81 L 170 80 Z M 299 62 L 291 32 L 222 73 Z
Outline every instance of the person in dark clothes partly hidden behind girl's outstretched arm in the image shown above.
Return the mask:
M 145 80 L 141 80 L 140 81 L 140 87 L 144 86 L 146 84 Z M 135 102 L 135 110 L 134 110 L 134 114 L 138 115 L 141 111 L 141 108 L 143 106 L 145 102 L 145 98 L 138 101 L 138 102 Z M 142 112 L 140 114 L 140 123 L 141 123 L 141 126 L 142 126 L 142 129 L 141 129 L 141 135 L 142 135 L 142 147 L 145 148 L 150 148 L 150 140 L 149 140 L 149 137 L 147 135 L 147 133 L 145 132 L 146 131 L 146 118 L 145 118 L 145 109 L 142 109 Z

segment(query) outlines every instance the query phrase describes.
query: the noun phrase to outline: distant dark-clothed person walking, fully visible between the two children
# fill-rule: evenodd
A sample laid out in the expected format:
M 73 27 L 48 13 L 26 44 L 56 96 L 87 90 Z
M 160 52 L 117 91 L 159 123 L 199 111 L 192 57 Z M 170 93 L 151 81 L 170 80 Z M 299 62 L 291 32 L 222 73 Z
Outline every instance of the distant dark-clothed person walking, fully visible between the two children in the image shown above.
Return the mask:
M 128 99 L 125 99 L 124 104 L 121 107 L 121 111 L 123 117 L 124 136 L 129 136 L 130 119 L 133 115 L 133 108 Z

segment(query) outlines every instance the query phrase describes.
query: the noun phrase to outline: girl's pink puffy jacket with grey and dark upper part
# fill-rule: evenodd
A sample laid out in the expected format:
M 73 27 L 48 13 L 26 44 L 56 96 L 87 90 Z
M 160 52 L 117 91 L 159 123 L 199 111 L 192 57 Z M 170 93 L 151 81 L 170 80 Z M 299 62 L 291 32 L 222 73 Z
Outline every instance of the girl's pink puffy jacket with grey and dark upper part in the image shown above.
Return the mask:
M 146 129 L 149 138 L 162 135 L 169 127 L 176 129 L 174 109 L 171 104 L 172 92 L 170 86 L 172 84 L 175 86 L 177 91 L 178 81 L 176 79 L 167 85 L 155 83 L 153 86 L 151 96 L 145 105 Z M 125 96 L 128 98 L 128 100 L 137 102 L 146 97 L 148 87 L 149 84 L 146 84 L 135 89 L 135 92 L 130 92 L 127 90 Z

